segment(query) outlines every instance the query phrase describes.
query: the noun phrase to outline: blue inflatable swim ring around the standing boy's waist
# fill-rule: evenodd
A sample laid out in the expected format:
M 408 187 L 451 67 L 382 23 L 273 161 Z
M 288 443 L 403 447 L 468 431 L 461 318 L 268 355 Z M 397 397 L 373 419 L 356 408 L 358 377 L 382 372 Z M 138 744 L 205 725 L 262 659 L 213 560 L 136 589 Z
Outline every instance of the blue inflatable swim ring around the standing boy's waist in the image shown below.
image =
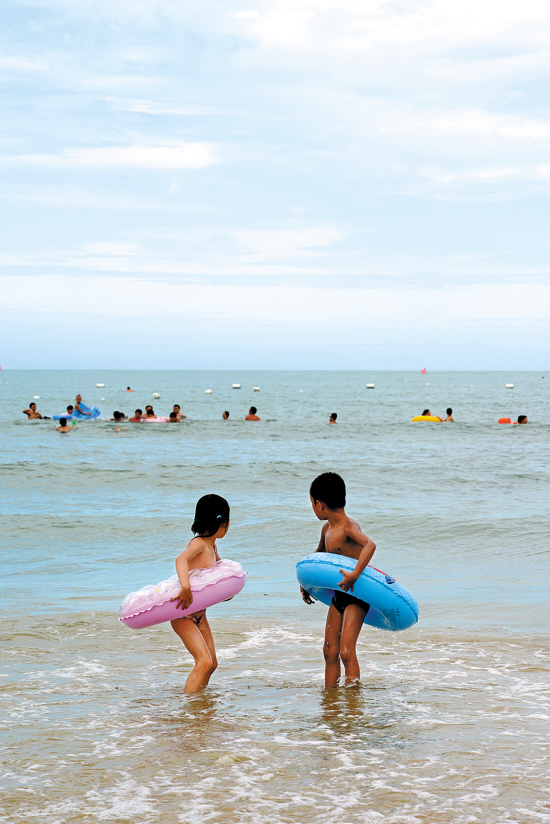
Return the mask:
M 329 606 L 334 592 L 339 590 L 338 584 L 342 580 L 340 570 L 353 572 L 356 563 L 345 555 L 314 552 L 298 561 L 296 575 L 300 586 L 312 598 Z M 399 632 L 418 621 L 418 604 L 414 596 L 391 575 L 375 567 L 368 566 L 363 570 L 350 594 L 370 604 L 365 624 L 371 627 Z

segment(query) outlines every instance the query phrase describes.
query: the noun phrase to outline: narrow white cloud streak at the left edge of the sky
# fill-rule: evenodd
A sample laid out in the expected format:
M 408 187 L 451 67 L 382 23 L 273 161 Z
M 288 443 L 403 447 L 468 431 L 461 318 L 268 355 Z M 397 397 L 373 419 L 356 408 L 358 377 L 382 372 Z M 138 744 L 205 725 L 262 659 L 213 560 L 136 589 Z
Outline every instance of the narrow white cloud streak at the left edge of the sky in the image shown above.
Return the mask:
M 4 162 L 58 169 L 204 169 L 219 163 L 221 152 L 214 143 L 172 143 L 65 149 L 60 154 L 3 155 L 1 159 Z

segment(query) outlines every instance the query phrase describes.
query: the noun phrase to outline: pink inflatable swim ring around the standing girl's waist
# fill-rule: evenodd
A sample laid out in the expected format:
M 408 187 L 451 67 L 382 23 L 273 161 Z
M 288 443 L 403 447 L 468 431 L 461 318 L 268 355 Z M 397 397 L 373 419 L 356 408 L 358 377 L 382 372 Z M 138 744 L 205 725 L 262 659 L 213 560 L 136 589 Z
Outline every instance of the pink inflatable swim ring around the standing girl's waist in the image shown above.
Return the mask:
M 193 602 L 187 609 L 177 609 L 177 602 L 171 600 L 181 589 L 178 576 L 172 575 L 156 586 L 130 592 L 120 605 L 119 620 L 132 629 L 143 629 L 229 601 L 244 587 L 246 572 L 236 561 L 223 560 L 208 569 L 192 569 L 189 581 Z

